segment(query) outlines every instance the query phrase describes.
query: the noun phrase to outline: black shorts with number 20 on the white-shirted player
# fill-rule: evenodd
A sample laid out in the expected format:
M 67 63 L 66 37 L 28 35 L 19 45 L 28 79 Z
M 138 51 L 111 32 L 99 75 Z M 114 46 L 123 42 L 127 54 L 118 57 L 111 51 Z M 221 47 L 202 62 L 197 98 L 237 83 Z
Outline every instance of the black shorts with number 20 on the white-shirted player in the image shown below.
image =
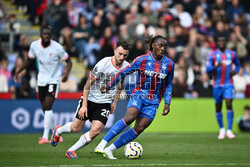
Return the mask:
M 110 109 L 111 109 L 111 104 L 110 103 L 94 103 L 92 101 L 88 101 L 88 117 L 81 119 L 79 118 L 78 111 L 82 107 L 82 101 L 83 97 L 79 100 L 79 104 L 76 109 L 76 114 L 75 117 L 79 120 L 89 120 L 92 122 L 92 120 L 98 120 L 101 121 L 104 125 L 106 125 Z

